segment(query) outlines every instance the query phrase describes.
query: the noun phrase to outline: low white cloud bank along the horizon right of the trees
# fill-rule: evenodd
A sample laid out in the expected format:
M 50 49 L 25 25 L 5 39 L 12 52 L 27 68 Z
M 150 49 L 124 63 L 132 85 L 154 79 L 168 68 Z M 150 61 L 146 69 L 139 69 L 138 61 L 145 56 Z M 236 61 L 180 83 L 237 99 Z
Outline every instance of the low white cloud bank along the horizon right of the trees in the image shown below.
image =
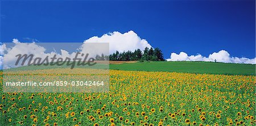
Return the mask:
M 197 54 L 196 56 L 191 55 L 188 56 L 185 52 L 180 52 L 179 54 L 171 53 L 171 57 L 166 59 L 167 61 L 209 61 L 214 62 L 226 62 L 226 63 L 237 63 L 237 64 L 256 64 L 256 58 L 245 58 L 245 57 L 230 57 L 230 54 L 221 50 L 219 52 L 214 52 L 209 54 L 208 57 L 204 57 L 201 54 Z

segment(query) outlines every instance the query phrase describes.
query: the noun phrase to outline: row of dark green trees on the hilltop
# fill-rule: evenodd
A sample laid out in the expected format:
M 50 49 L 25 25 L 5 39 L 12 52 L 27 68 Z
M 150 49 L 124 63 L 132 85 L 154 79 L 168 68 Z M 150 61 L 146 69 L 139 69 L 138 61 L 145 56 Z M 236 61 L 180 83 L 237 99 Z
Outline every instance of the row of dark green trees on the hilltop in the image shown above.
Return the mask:
M 103 57 L 103 56 L 101 56 Z M 96 59 L 97 60 L 97 59 Z M 134 52 L 118 52 L 109 55 L 110 61 L 164 61 L 163 53 L 159 48 L 145 48 L 143 53 L 141 49 L 135 49 Z

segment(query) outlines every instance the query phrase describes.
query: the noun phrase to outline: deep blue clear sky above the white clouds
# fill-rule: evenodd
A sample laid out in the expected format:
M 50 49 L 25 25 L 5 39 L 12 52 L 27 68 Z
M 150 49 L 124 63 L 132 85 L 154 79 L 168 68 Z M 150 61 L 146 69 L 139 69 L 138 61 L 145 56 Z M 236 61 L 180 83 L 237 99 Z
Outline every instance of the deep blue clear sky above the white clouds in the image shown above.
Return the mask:
M 133 30 L 165 58 L 255 57 L 255 1 L 1 1 L 1 42 L 82 42 Z

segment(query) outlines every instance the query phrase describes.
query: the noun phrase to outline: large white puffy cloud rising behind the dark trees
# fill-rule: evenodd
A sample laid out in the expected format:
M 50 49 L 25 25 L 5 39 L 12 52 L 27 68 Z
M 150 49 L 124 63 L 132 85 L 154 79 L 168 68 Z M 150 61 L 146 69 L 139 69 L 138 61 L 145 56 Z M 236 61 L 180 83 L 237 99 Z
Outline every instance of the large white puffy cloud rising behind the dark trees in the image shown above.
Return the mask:
M 109 43 L 110 54 L 115 51 L 135 51 L 135 49 L 141 49 L 143 51 L 146 47 L 151 48 L 147 40 L 141 39 L 134 31 L 125 33 L 115 31 L 104 34 L 101 37 L 94 36 L 85 40 L 84 43 Z

